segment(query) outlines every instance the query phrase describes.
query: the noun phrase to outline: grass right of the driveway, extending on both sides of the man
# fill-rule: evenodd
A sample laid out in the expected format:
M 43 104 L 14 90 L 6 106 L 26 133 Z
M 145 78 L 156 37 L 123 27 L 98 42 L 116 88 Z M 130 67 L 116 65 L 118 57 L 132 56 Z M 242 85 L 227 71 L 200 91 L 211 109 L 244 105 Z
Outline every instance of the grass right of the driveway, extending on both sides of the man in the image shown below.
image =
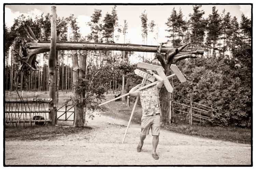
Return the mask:
M 107 100 L 112 99 L 113 96 L 106 96 Z M 108 115 L 112 118 L 129 120 L 133 103 L 130 103 L 130 107 L 126 106 L 126 102 L 115 101 L 108 104 L 105 104 L 105 107 L 109 110 L 104 112 L 104 115 Z M 141 106 L 136 106 L 132 117 L 132 123 L 141 123 Z M 251 143 L 251 129 L 249 128 L 239 128 L 239 127 L 222 127 L 222 126 L 200 126 L 189 124 L 171 124 L 171 125 L 162 125 L 162 128 L 170 130 L 172 132 L 181 133 L 191 136 L 206 137 L 210 139 L 218 139 L 224 141 L 232 141 L 239 143 Z

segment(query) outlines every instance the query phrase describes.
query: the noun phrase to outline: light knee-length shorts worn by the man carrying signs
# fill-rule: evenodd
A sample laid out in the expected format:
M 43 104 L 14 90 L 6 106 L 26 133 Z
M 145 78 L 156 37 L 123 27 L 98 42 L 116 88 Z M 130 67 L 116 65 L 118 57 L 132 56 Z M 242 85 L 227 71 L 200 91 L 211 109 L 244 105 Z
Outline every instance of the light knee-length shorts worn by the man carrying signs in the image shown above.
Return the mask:
M 141 134 L 148 135 L 149 130 L 151 128 L 151 134 L 155 136 L 159 136 L 160 123 L 161 123 L 160 114 L 143 116 L 141 118 Z

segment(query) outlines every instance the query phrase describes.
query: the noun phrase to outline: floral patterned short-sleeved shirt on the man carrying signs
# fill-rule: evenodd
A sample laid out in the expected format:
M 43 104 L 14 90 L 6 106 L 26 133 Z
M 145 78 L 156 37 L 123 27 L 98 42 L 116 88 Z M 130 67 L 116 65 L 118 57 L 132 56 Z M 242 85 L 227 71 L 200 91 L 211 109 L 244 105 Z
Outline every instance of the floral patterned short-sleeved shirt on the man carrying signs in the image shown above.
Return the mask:
M 159 90 L 156 85 L 140 91 L 142 117 L 160 113 L 158 94 Z

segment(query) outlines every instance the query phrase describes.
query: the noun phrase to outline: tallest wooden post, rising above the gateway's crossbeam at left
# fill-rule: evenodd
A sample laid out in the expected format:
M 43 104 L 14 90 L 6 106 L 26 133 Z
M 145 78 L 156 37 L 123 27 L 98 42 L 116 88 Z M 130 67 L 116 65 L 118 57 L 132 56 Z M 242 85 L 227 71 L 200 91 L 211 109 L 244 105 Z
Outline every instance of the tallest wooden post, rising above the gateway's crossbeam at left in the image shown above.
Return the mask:
M 56 6 L 51 7 L 51 46 L 50 46 L 50 56 L 49 56 L 49 98 L 52 98 L 51 103 L 49 103 L 49 119 L 52 121 L 51 124 L 55 125 L 56 116 L 56 42 L 57 42 L 57 30 L 56 30 Z

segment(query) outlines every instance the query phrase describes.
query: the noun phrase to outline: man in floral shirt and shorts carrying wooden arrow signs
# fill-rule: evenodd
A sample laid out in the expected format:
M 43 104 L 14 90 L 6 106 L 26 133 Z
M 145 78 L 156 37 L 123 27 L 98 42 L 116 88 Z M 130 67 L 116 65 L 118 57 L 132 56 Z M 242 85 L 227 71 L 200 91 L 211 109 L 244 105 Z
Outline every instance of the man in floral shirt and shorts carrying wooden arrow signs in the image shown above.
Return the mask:
M 157 74 L 154 74 L 151 70 L 147 70 L 147 73 L 154 76 L 158 80 L 158 83 L 154 86 L 148 87 L 140 91 L 137 89 L 142 84 L 138 84 L 129 91 L 130 95 L 140 96 L 142 106 L 141 133 L 140 142 L 137 146 L 137 152 L 141 151 L 144 139 L 146 138 L 146 135 L 149 134 L 149 130 L 151 128 L 151 133 L 153 135 L 152 156 L 154 159 L 159 159 L 159 156 L 156 153 L 156 148 L 159 141 L 159 131 L 161 124 L 161 114 L 159 108 L 159 89 L 163 85 L 163 79 Z M 149 83 L 151 82 L 146 80 L 146 84 Z

